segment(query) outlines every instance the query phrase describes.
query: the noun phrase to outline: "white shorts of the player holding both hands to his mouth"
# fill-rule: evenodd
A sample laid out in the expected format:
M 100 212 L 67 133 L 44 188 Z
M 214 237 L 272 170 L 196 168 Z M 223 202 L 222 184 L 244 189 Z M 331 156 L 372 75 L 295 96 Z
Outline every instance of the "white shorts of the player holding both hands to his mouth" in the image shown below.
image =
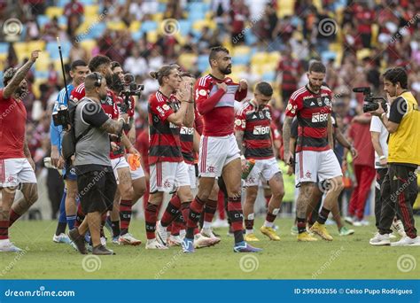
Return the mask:
M 156 162 L 151 165 L 151 193 L 173 192 L 181 186 L 190 186 L 190 175 L 185 162 Z

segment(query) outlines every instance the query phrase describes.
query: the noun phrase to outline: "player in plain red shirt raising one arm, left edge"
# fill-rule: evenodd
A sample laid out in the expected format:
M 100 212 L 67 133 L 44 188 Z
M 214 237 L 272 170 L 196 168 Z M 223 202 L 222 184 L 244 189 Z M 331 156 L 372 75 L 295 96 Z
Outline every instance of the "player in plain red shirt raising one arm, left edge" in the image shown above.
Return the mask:
M 9 227 L 38 199 L 35 163 L 25 136 L 27 110 L 23 99 L 28 93 L 25 76 L 39 57 L 39 52 L 32 51 L 27 63 L 18 70 L 7 69 L 4 72 L 4 89 L 0 89 L 0 252 L 21 251 L 9 239 Z M 23 198 L 13 204 L 19 185 Z

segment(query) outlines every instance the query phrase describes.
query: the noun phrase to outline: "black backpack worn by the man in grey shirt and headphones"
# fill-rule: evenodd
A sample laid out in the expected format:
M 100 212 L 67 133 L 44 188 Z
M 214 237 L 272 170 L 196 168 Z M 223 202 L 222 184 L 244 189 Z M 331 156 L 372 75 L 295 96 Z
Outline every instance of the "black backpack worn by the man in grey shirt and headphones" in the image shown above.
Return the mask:
M 67 111 L 68 111 L 68 120 L 70 127 L 66 130 L 66 133 L 63 136 L 63 142 L 61 143 L 61 151 L 63 153 L 63 159 L 69 165 L 72 163 L 72 156 L 76 152 L 76 144 L 82 139 L 82 136 L 86 136 L 89 133 L 89 130 L 92 128 L 90 125 L 86 128 L 82 134 L 76 137 L 75 133 L 75 123 L 74 123 L 74 116 L 76 114 L 76 107 L 79 104 L 75 103 L 72 99 L 67 101 Z

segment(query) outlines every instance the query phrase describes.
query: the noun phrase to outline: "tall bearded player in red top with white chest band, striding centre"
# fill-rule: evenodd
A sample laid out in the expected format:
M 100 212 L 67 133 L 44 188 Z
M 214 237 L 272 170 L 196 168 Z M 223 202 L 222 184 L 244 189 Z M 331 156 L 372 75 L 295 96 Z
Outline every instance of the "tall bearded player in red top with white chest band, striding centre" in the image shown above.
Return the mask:
M 221 46 L 212 48 L 209 63 L 211 74 L 199 78 L 194 89 L 198 113 L 203 116 L 205 126 L 198 156 L 198 194 L 191 203 L 187 217 L 183 251 L 194 252 L 194 229 L 214 188 L 215 177 L 222 175 L 228 190 L 229 217 L 235 236 L 234 252 L 258 252 L 261 250 L 246 244 L 242 234 L 241 161 L 233 135 L 235 100 L 240 101 L 246 97 L 248 84 L 245 80 L 235 84 L 226 76 L 231 73 L 232 67 L 227 49 Z

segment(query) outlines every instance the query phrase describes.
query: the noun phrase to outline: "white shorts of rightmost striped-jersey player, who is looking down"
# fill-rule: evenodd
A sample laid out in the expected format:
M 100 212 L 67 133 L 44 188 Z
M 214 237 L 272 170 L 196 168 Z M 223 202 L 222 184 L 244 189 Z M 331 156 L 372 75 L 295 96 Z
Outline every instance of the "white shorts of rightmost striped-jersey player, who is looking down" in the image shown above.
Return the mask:
M 296 153 L 295 175 L 296 186 L 299 186 L 302 182 L 323 182 L 343 173 L 334 151 L 299 151 Z

